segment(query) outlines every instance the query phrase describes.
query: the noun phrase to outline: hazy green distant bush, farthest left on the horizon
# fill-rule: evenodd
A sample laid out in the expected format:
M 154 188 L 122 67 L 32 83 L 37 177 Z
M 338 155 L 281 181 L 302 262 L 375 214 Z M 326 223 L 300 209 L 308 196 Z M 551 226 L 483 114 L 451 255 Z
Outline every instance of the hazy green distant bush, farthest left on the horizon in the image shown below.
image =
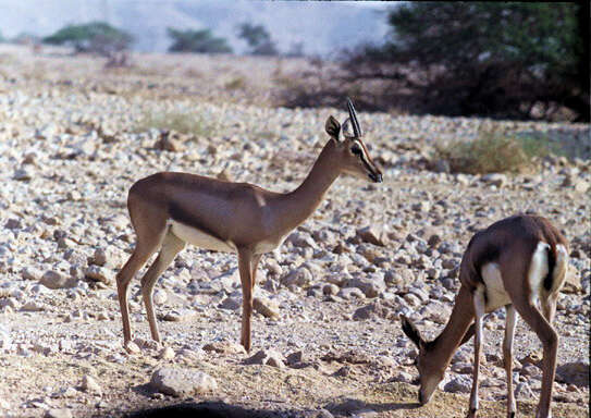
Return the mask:
M 76 52 L 99 53 L 104 57 L 113 57 L 127 49 L 132 41 L 133 37 L 128 33 L 104 22 L 67 25 L 44 38 L 47 44 L 69 45 Z

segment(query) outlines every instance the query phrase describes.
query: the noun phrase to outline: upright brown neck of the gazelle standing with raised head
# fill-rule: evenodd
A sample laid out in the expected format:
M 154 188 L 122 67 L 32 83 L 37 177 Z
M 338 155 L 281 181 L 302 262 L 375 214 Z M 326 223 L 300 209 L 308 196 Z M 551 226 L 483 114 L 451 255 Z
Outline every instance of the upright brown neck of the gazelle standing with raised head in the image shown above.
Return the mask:
M 324 194 L 340 174 L 334 157 L 335 143 L 329 140 L 308 176 L 295 190 L 287 193 L 284 198 L 283 219 L 291 229 L 303 223 L 318 208 Z

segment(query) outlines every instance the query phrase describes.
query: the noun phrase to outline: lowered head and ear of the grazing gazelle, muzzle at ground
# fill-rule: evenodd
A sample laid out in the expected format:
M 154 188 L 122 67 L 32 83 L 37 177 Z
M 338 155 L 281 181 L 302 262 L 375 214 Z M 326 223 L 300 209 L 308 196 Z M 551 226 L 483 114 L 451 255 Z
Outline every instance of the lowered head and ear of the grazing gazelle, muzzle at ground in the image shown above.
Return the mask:
M 445 376 L 447 365 L 433 356 L 432 344 L 422 340 L 416 327 L 406 318 L 401 317 L 403 332 L 410 339 L 419 349 L 415 359 L 415 366 L 419 371 L 419 403 L 424 405 L 429 402 L 439 383 Z

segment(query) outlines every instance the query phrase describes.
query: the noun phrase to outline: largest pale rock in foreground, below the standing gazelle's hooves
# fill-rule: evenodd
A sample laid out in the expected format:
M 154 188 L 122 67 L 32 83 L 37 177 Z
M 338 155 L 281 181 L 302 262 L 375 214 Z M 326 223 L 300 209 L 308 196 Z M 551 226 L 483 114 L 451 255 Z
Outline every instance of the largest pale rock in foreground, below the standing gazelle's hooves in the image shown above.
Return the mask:
M 163 367 L 152 373 L 150 385 L 171 396 L 190 396 L 218 389 L 216 379 L 202 371 Z

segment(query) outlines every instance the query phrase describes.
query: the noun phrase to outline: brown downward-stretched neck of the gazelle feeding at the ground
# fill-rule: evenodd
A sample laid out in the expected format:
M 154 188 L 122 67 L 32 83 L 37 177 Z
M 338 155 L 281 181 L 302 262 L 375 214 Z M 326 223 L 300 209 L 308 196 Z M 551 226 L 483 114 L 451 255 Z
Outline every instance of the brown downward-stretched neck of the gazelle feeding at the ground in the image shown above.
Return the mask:
M 459 347 L 464 335 L 473 322 L 473 302 L 470 291 L 461 286 L 454 303 L 454 309 L 447 324 L 439 336 L 430 344 L 431 356 L 436 357 L 436 364 L 444 368 L 450 365 L 452 357 Z

